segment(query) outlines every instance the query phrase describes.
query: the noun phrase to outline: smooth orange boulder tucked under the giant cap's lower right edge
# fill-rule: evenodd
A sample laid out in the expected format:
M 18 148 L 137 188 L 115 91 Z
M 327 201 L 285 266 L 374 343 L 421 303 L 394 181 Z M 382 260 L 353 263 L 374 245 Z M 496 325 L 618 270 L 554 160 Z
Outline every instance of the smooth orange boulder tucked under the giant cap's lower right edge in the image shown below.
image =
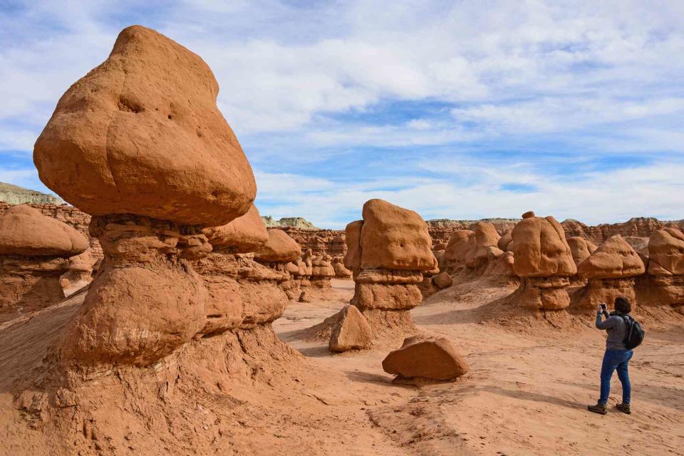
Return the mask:
M 232 253 L 249 253 L 269 241 L 264 220 L 256 206 L 249 207 L 247 214 L 237 217 L 229 224 L 202 230 L 214 247 Z

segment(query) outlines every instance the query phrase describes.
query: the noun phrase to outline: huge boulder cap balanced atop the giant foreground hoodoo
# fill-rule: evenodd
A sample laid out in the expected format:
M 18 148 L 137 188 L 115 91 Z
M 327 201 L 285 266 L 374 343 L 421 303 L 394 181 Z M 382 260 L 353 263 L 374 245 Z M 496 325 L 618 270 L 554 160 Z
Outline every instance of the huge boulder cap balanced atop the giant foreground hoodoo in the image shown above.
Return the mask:
M 36 141 L 41 180 L 92 215 L 217 226 L 247 212 L 252 168 L 197 54 L 141 26 L 73 84 Z

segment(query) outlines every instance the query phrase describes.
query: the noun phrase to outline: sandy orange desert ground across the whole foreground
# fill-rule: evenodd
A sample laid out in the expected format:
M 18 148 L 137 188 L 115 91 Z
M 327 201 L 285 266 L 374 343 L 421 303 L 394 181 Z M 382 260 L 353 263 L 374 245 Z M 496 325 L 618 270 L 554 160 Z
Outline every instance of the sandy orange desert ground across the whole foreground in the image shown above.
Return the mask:
M 621 392 L 614 378 L 611 412 L 594 415 L 586 405 L 594 403 L 598 393 L 603 333 L 591 327 L 592 321 L 483 320 L 483 309 L 496 306 L 497 299 L 513 289 L 484 282 L 456 285 L 412 311 L 419 331 L 447 336 L 470 364 L 470 371 L 455 383 L 418 388 L 393 384 L 393 376 L 381 367 L 386 353 L 400 346 L 402 335 L 382 338 L 370 351 L 333 355 L 327 339 L 311 331 L 353 295 L 353 281 L 333 279 L 333 289 L 315 294 L 318 299 L 310 303 L 291 302 L 274 323 L 279 338 L 304 355 L 296 363 L 287 360 L 281 374 L 257 366 L 251 381 L 207 395 L 207 388 L 197 383 L 200 374 L 180 373 L 176 388 L 185 390 L 190 401 L 182 394 L 175 396 L 175 403 L 162 401 L 169 408 L 163 432 L 149 423 L 135 428 L 131 420 L 134 431 L 129 434 L 138 433 L 140 440 L 131 437 L 128 448 L 108 440 L 110 451 L 103 442 L 95 445 L 77 432 L 80 440 L 73 442 L 73 454 L 684 454 L 680 321 L 646 323 L 648 338 L 631 363 L 633 414 L 612 408 Z M 31 377 L 29 366 L 43 356 L 51 334 L 73 316 L 83 295 L 0 325 L 0 363 L 6 368 L 0 375 L 5 411 L 0 428 L 9 436 L 6 454 L 48 454 L 46 440 L 53 435 L 37 418 L 10 412 L 13 392 L 22 383 L 20 377 Z M 18 358 L 14 353 L 19 346 L 32 348 L 24 348 Z M 98 388 L 108 394 L 109 386 Z M 111 392 L 120 394 L 113 387 Z M 122 410 L 127 410 L 127 401 L 121 398 Z M 145 414 L 155 411 L 139 413 Z M 108 419 L 114 418 L 95 415 L 93 426 Z M 179 451 L 166 446 L 171 440 L 185 447 Z M 139 442 L 154 443 L 145 447 Z

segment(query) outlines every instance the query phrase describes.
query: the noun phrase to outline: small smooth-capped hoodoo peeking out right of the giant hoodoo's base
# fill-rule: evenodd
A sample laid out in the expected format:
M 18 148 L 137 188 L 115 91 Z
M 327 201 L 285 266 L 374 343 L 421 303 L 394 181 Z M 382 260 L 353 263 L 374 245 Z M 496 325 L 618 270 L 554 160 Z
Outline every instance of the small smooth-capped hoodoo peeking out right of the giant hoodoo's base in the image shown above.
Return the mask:
M 281 229 L 269 229 L 268 236 L 269 240 L 266 244 L 254 252 L 254 259 L 281 275 L 284 278 L 281 281 L 281 289 L 285 291 L 289 299 L 296 299 L 301 293 L 301 279 L 297 275 L 302 269 L 294 266 L 292 261 L 299 259 L 301 248 Z

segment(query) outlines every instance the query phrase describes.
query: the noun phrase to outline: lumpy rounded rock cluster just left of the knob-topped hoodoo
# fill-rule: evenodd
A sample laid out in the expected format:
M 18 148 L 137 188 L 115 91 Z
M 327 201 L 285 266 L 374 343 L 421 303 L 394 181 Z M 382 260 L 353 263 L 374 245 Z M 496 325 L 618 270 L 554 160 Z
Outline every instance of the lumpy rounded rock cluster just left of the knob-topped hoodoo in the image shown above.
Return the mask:
M 440 270 L 457 276 L 457 281 L 468 281 L 481 276 L 514 276 L 512 254 L 499 249 L 501 240 L 489 222 L 477 222 L 472 229 L 460 229 L 449 239 L 440 258 Z

